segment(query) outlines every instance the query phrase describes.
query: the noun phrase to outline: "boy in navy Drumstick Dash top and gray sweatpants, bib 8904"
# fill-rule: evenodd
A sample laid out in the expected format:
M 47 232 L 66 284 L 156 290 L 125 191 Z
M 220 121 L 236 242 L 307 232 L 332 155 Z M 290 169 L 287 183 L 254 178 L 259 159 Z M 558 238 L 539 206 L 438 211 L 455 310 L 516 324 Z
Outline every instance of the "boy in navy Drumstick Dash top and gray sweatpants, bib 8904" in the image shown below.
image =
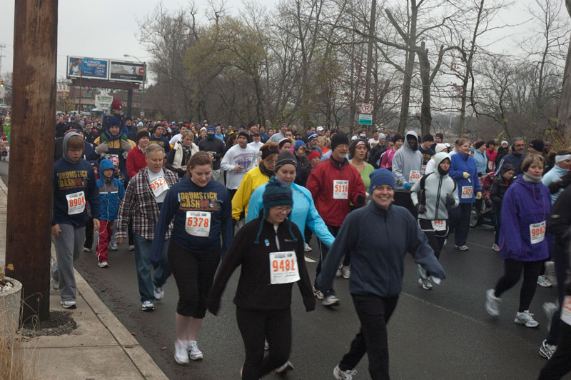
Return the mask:
M 76 132 L 64 137 L 64 156 L 54 163 L 54 235 L 57 261 L 51 266 L 51 286 L 59 289 L 65 309 L 76 308 L 74 261 L 85 241 L 85 221 L 89 202 L 94 228 L 99 229 L 99 196 L 94 169 L 81 159 L 84 139 Z

